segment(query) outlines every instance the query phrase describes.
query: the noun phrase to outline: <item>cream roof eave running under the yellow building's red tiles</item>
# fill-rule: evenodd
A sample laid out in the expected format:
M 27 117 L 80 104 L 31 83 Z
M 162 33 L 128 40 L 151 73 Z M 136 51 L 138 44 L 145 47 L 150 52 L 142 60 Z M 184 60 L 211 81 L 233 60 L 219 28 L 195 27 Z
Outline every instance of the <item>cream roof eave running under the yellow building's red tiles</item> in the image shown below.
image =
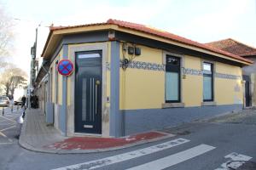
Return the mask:
M 52 54 L 52 51 L 54 50 L 54 48 L 52 48 L 52 47 L 55 47 L 57 45 L 57 42 L 61 40 L 61 37 L 63 37 L 63 35 L 75 34 L 75 33 L 81 33 L 81 32 L 90 32 L 90 31 L 102 31 L 102 30 L 123 31 L 126 33 L 131 33 L 131 34 L 140 36 L 140 37 L 147 37 L 147 38 L 154 39 L 154 40 L 157 40 L 160 42 L 171 43 L 171 44 L 177 45 L 179 47 L 189 48 L 189 49 L 192 49 L 195 51 L 199 51 L 201 53 L 211 54 L 211 55 L 223 58 L 223 59 L 233 60 L 238 63 L 241 63 L 242 65 L 253 64 L 253 61 L 251 61 L 249 59 L 234 59 L 234 58 L 230 57 L 229 55 L 217 53 L 214 50 L 197 47 L 195 45 L 187 44 L 185 42 L 179 42 L 177 40 L 172 40 L 171 38 L 161 37 L 161 36 L 154 35 L 154 34 L 151 34 L 148 32 L 138 31 L 138 30 L 134 30 L 131 28 L 126 28 L 124 26 L 118 26 L 116 24 L 108 24 L 108 23 L 101 24 L 101 25 L 89 25 L 89 26 L 78 26 L 78 27 L 73 26 L 73 27 L 67 27 L 67 28 L 64 27 L 64 28 L 60 28 L 60 29 L 51 30 L 49 32 L 49 37 L 47 38 L 47 42 L 44 45 L 42 57 L 44 57 L 45 59 L 49 59 L 51 57 L 50 54 Z M 236 57 L 240 57 L 240 56 L 236 56 Z

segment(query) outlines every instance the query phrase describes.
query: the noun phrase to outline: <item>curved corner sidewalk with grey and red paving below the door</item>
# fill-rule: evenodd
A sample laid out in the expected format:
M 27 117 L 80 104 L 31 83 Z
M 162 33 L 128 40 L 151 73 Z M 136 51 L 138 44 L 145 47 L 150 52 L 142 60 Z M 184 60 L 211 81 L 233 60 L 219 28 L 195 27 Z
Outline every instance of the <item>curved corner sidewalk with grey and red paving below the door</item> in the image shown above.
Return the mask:
M 22 147 L 45 153 L 90 153 L 123 149 L 173 136 L 171 133 L 152 131 L 124 138 L 64 137 L 55 127 L 47 126 L 44 120 L 45 116 L 40 110 L 26 110 L 19 139 Z

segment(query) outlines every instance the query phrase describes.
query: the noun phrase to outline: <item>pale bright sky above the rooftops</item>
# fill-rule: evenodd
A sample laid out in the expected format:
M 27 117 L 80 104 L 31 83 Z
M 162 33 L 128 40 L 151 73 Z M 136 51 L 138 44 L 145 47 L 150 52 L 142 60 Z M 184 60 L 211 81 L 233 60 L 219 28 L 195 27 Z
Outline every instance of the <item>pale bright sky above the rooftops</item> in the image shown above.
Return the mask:
M 47 28 L 105 22 L 109 18 L 126 20 L 165 31 L 197 42 L 234 38 L 256 47 L 256 0 L 0 0 L 15 20 L 14 57 L 28 71 L 30 47 L 35 28 L 41 23 L 41 43 Z M 38 52 L 40 53 L 40 52 Z

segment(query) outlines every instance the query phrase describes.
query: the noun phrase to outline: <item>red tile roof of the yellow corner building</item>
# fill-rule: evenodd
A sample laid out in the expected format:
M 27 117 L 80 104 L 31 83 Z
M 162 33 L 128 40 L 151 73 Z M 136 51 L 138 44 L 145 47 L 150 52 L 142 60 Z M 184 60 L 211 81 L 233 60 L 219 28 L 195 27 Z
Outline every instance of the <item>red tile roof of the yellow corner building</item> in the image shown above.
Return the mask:
M 225 56 L 228 56 L 232 59 L 238 59 L 247 63 L 253 63 L 253 61 L 249 60 L 249 59 L 244 59 L 241 56 L 238 56 L 236 54 L 230 54 L 228 52 L 225 52 L 223 50 L 220 50 L 218 48 L 212 48 L 206 44 L 200 43 L 200 42 L 195 42 L 192 40 L 189 40 L 187 38 L 184 37 L 179 37 L 175 34 L 172 34 L 170 32 L 167 31 L 160 31 L 158 29 L 149 27 L 149 26 L 144 26 L 144 25 L 140 25 L 140 24 L 135 24 L 135 23 L 131 23 L 131 22 L 126 22 L 126 21 L 122 21 L 122 20 L 112 20 L 109 19 L 107 22 L 104 23 L 96 23 L 96 24 L 88 24 L 88 25 L 80 25 L 80 26 L 57 26 L 57 27 L 50 27 L 50 31 L 55 31 L 55 30 L 62 30 L 62 29 L 67 29 L 67 28 L 78 28 L 78 27 L 83 27 L 83 26 L 100 26 L 100 25 L 115 25 L 115 26 L 119 26 L 119 27 L 123 27 L 123 28 L 128 28 L 131 30 L 135 30 L 135 31 L 141 31 L 144 33 L 148 33 L 157 37 L 163 37 L 175 42 L 182 42 L 183 44 L 187 44 L 189 46 L 193 46 L 196 48 L 202 48 L 202 49 L 206 49 L 208 51 L 211 51 L 213 53 L 217 53 L 217 54 L 223 54 Z

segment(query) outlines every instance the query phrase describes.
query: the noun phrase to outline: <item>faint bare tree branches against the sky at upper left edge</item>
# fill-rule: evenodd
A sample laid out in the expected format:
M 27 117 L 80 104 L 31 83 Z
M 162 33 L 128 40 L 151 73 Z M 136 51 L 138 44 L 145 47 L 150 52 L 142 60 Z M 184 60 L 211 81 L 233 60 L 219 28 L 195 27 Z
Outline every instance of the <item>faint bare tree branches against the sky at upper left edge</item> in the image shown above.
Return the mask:
M 5 13 L 3 5 L 0 3 L 0 67 L 3 64 L 3 58 L 9 56 L 9 48 L 14 37 L 12 27 L 13 22 L 8 14 Z

